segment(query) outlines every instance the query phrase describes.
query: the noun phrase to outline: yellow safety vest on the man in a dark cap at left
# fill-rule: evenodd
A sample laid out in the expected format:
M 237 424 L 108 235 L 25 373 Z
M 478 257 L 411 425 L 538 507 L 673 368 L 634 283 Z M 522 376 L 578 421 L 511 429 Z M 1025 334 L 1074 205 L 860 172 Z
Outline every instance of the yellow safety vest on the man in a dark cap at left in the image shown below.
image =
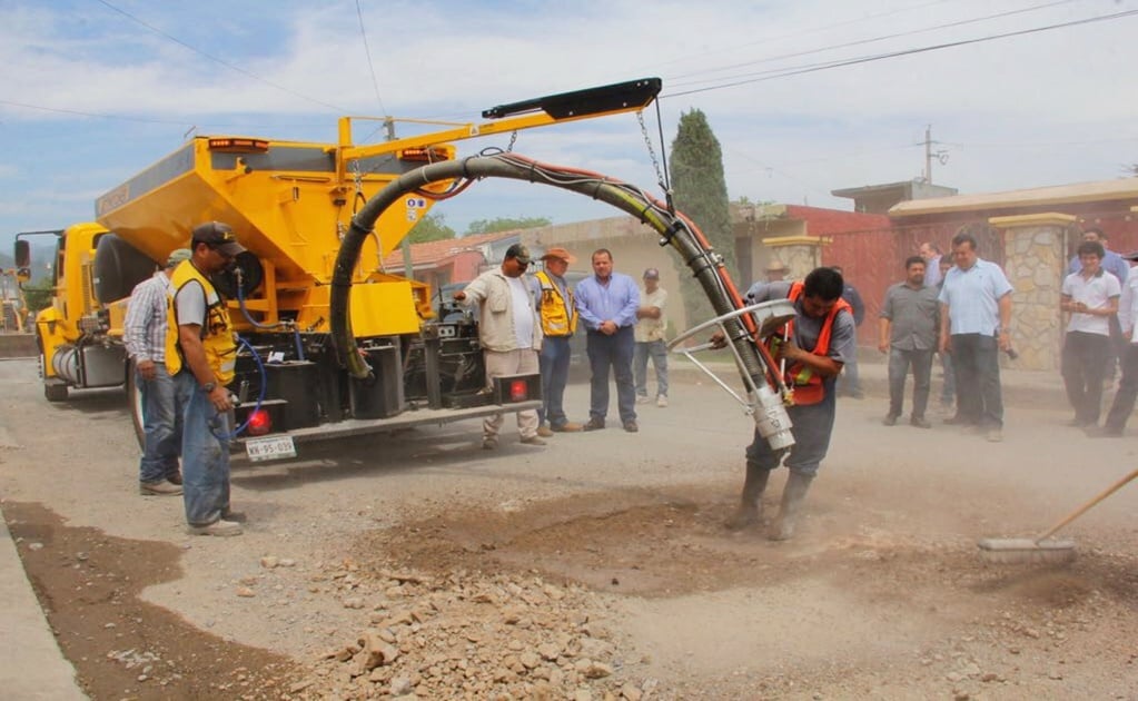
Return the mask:
M 178 307 L 174 305 L 174 298 L 179 290 L 193 281 L 201 284 L 206 295 L 206 319 L 201 325 L 201 347 L 206 352 L 206 361 L 217 378 L 217 384 L 229 385 L 233 381 L 233 368 L 237 364 L 237 340 L 233 338 L 229 310 L 225 308 L 225 300 L 214 289 L 213 283 L 193 267 L 190 261 L 179 264 L 170 281 L 174 292 L 166 300 L 166 372 L 171 376 L 178 374 L 184 364 L 182 346 L 178 340 Z

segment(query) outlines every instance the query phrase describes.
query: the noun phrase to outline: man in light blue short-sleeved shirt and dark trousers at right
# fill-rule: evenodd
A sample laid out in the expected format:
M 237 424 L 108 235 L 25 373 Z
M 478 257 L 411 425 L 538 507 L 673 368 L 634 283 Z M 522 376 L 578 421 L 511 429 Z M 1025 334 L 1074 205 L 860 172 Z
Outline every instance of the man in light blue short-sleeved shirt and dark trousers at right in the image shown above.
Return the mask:
M 1004 397 L 999 380 L 1000 350 L 1012 340 L 1012 284 L 999 265 L 980 258 L 967 228 L 953 237 L 956 267 L 940 290 L 940 352 L 953 354 L 956 371 L 956 415 L 987 431 L 988 440 L 1004 439 Z

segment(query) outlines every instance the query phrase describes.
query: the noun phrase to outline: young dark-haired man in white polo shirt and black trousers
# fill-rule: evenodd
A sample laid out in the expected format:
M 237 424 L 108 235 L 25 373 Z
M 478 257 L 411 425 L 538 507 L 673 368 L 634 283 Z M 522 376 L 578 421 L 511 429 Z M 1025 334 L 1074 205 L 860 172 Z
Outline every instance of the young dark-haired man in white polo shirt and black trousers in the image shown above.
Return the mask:
M 1103 376 L 1111 355 L 1110 319 L 1119 311 L 1119 279 L 1103 270 L 1098 241 L 1079 245 L 1079 272 L 1063 280 L 1059 308 L 1071 314 L 1063 339 L 1063 385 L 1074 409 L 1071 426 L 1098 423 Z

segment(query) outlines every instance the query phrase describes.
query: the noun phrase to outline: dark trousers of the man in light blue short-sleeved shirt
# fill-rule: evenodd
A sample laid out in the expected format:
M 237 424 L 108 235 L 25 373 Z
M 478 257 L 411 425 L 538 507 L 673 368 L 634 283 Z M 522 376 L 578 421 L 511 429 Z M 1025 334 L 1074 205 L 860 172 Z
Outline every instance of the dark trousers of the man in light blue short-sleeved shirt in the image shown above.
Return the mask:
M 965 423 L 1001 428 L 1004 395 L 999 384 L 999 344 L 995 336 L 954 333 L 956 414 Z

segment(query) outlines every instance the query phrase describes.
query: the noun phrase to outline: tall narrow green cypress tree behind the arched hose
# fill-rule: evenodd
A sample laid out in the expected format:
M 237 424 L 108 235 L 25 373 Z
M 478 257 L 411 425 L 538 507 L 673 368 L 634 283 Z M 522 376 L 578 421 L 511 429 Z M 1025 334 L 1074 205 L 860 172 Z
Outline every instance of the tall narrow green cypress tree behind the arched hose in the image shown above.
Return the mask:
M 695 222 L 715 251 L 723 256 L 727 272 L 735 275 L 735 234 L 723 175 L 723 150 L 699 109 L 679 117 L 676 139 L 671 142 L 671 189 L 676 208 Z M 688 323 L 711 317 L 711 303 L 686 267 L 681 271 L 679 279 Z

